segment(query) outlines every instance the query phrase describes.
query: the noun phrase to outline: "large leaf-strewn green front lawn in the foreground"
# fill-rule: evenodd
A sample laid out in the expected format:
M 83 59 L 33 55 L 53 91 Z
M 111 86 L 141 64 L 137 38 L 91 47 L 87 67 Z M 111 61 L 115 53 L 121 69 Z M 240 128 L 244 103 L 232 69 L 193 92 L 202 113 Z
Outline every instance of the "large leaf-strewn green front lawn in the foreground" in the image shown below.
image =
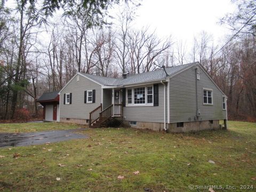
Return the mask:
M 46 125 L 52 129 L 52 124 Z M 53 125 L 57 127 L 58 123 Z M 190 191 L 191 184 L 256 190 L 256 180 L 252 179 L 256 177 L 255 123 L 229 122 L 228 131 L 182 134 L 114 128 L 88 129 L 82 133 L 91 138 L 1 148 L 0 155 L 5 157 L 0 158 L 0 189 Z M 14 153 L 19 153 L 19 158 L 13 158 Z M 209 159 L 215 164 L 209 163 Z M 58 166 L 59 163 L 65 166 Z M 83 166 L 77 166 L 80 164 Z M 133 174 L 134 171 L 139 174 Z M 118 175 L 124 179 L 118 179 Z M 254 189 L 242 190 L 240 185 L 253 185 Z

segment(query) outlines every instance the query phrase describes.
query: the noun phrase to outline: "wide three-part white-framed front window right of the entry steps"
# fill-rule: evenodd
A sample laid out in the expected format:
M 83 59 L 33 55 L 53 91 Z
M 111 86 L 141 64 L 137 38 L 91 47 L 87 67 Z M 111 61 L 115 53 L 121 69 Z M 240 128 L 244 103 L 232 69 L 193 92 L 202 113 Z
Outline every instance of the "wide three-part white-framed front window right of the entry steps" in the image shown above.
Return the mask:
M 127 106 L 152 106 L 153 105 L 153 86 L 134 87 L 127 89 Z

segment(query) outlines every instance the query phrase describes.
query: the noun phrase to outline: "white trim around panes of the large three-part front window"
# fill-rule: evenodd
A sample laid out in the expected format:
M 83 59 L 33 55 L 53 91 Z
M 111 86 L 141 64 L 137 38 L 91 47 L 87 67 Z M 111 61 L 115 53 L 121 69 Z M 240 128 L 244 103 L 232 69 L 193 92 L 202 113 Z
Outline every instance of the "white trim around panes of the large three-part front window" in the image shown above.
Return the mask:
M 134 103 L 134 89 L 139 87 L 145 87 L 145 103 Z M 152 103 L 148 103 L 148 87 L 152 87 Z M 128 103 L 128 90 L 132 90 L 132 103 Z M 139 106 L 154 106 L 154 85 L 134 86 L 126 88 L 126 106 L 125 107 L 139 107 Z

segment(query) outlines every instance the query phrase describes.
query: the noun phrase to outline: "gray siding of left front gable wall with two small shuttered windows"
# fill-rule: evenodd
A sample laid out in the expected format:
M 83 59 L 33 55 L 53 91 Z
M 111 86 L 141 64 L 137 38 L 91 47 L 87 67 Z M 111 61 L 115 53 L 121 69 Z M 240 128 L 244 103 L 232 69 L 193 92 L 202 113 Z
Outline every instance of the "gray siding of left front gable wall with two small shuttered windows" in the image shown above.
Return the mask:
M 95 103 L 84 103 L 84 91 L 95 90 Z M 72 104 L 63 105 L 63 95 L 72 93 Z M 60 93 L 60 118 L 89 119 L 89 113 L 100 106 L 101 85 L 80 75 L 76 76 Z

